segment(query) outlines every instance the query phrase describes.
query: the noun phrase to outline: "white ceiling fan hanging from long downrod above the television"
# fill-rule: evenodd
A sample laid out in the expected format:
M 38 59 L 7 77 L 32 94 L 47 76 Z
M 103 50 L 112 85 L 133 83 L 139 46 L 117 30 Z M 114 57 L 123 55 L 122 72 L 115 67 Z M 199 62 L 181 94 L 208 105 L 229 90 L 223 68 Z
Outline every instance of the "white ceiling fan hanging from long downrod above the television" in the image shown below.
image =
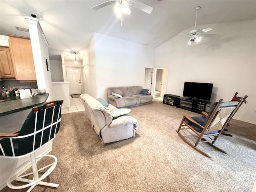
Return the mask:
M 200 8 L 201 8 L 200 6 L 196 7 L 196 19 L 197 19 L 197 12 Z M 195 22 L 195 27 L 193 30 L 191 30 L 189 33 L 179 33 L 179 34 L 187 34 L 188 36 L 186 36 L 184 38 L 190 37 L 188 44 L 191 44 L 194 42 L 199 42 L 201 40 L 201 37 L 210 37 L 211 35 L 216 35 L 216 34 L 204 34 L 205 32 L 208 32 L 211 30 L 212 30 L 212 28 L 209 28 L 209 27 L 202 29 L 202 30 L 196 29 L 196 22 Z M 181 38 L 181 39 L 184 39 L 184 38 Z M 181 40 L 181 39 L 178 39 L 178 40 Z M 176 41 L 178 41 L 178 40 L 176 40 Z

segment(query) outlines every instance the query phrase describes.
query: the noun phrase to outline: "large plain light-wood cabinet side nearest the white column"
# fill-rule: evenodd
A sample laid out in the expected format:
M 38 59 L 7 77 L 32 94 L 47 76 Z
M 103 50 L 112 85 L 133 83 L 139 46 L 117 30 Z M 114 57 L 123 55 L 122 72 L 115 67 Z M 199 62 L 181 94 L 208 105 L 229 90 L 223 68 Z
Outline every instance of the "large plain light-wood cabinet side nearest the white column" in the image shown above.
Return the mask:
M 9 46 L 16 80 L 36 81 L 30 38 L 9 36 Z

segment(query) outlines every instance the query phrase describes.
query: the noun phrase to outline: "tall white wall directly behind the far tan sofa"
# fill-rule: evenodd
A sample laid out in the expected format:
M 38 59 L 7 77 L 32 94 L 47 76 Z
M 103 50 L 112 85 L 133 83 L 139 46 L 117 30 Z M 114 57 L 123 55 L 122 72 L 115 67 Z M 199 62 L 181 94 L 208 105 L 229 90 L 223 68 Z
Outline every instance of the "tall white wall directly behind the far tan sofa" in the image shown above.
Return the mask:
M 107 100 L 106 89 L 144 84 L 145 67 L 154 67 L 155 48 L 94 34 L 96 98 Z

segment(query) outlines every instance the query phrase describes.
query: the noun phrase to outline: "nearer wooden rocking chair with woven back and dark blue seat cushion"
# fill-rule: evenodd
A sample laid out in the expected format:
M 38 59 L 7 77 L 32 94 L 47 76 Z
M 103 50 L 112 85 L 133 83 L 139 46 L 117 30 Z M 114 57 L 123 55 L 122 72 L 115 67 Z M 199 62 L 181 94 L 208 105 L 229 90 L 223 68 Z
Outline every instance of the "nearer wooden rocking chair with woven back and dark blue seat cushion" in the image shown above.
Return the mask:
M 242 102 L 242 100 L 232 102 L 222 101 L 223 100 L 220 99 L 219 102 L 212 103 L 210 112 L 208 114 L 202 112 L 202 116 L 190 117 L 188 114 L 182 113 L 183 118 L 176 131 L 182 140 L 209 158 L 211 158 L 211 156 L 197 148 L 198 144 L 206 142 L 216 150 L 226 154 L 224 150 L 213 144 Z M 206 118 L 204 117 L 205 115 L 207 115 Z

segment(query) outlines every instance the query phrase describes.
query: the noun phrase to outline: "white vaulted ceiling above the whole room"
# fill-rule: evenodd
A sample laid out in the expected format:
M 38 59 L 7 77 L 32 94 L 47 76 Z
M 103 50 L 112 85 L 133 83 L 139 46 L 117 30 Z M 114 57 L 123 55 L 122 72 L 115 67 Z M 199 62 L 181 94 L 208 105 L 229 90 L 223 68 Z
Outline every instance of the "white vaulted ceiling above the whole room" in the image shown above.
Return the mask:
M 197 25 L 232 22 L 256 18 L 254 0 L 141 0 L 154 7 L 147 14 L 131 7 L 131 14 L 120 26 L 114 14 L 114 3 L 99 10 L 92 6 L 104 0 L 1 0 L 0 34 L 29 37 L 24 16 L 35 14 L 49 43 L 49 55 L 60 54 L 73 60 L 72 51 L 85 53 L 94 32 L 157 47 L 178 33 Z M 214 33 L 214 31 L 213 31 Z M 181 37 L 182 38 L 182 37 Z M 82 59 L 82 54 L 78 55 Z

